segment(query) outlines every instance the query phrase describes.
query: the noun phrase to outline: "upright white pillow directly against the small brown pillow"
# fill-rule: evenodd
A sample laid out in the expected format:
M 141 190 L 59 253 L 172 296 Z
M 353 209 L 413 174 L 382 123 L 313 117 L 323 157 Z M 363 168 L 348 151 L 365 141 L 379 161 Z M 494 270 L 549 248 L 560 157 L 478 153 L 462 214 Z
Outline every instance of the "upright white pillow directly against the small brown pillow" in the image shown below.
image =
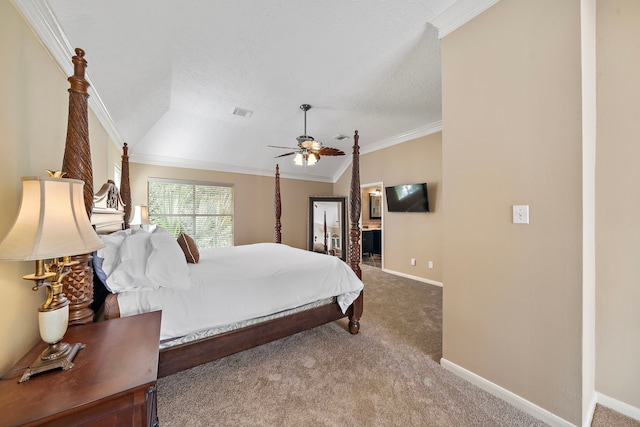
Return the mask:
M 191 287 L 187 260 L 171 233 L 156 228 L 149 237 L 147 251 L 146 276 L 150 281 L 165 288 L 185 290 Z

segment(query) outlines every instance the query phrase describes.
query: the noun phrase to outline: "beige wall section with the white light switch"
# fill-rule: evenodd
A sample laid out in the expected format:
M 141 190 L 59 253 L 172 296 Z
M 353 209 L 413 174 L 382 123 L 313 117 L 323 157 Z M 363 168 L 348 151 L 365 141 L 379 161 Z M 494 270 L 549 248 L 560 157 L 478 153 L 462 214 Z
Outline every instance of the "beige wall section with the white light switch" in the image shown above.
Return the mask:
M 579 0 L 503 0 L 442 40 L 443 358 L 576 424 L 580 72 Z

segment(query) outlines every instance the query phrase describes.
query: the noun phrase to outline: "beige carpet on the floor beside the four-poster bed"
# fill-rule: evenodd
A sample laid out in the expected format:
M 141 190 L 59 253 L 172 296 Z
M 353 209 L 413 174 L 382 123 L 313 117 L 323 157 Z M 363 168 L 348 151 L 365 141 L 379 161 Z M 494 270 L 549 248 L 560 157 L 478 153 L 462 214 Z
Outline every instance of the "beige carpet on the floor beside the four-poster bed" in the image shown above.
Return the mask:
M 162 378 L 160 425 L 545 425 L 437 363 L 440 288 L 362 268 L 358 335 L 334 322 Z

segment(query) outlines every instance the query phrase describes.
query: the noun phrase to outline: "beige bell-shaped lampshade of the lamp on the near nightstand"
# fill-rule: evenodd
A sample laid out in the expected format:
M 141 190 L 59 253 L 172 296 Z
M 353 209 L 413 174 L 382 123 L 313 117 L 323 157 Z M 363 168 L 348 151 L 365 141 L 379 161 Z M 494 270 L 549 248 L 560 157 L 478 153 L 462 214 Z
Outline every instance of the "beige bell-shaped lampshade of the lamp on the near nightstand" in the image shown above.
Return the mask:
M 0 243 L 0 259 L 44 260 L 103 247 L 87 217 L 83 186 L 76 179 L 22 178 L 20 211 Z

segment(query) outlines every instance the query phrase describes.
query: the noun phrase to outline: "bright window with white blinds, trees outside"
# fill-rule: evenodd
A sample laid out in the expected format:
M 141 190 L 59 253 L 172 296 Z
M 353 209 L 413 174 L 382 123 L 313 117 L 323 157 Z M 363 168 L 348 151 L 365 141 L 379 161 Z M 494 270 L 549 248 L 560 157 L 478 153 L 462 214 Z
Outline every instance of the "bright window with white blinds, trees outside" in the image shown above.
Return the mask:
M 233 246 L 233 186 L 151 178 L 149 219 L 199 248 Z

